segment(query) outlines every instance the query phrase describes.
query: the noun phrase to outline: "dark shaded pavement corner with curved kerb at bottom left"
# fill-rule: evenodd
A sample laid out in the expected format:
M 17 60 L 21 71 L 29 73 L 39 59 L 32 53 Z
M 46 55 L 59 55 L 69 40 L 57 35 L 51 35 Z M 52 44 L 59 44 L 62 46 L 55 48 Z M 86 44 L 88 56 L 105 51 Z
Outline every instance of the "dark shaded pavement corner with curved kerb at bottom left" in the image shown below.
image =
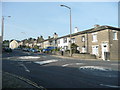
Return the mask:
M 30 82 L 30 81 L 29 81 Z M 26 82 L 23 78 L 10 74 L 8 72 L 2 72 L 2 88 L 37 88 L 32 83 Z

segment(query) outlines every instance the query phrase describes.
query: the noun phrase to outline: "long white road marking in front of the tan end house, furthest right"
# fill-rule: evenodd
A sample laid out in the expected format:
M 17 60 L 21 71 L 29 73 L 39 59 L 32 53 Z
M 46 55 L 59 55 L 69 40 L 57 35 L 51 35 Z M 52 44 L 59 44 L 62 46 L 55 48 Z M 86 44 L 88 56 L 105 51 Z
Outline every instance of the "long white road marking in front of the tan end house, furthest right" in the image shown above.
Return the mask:
M 92 70 L 101 70 L 101 71 L 111 70 L 111 69 L 107 69 L 106 67 L 101 67 L 101 66 L 81 66 L 79 69 L 92 69 Z

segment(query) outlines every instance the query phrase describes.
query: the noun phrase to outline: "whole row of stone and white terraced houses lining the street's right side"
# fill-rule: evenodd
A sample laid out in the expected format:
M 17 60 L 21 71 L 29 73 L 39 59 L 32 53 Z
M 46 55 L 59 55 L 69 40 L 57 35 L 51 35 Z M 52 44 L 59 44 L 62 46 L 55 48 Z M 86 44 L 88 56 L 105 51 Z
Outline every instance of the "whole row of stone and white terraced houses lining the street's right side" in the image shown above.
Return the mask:
M 41 48 L 54 46 L 70 50 L 70 35 L 52 38 L 40 42 Z M 71 42 L 78 47 L 79 53 L 95 55 L 97 59 L 120 60 L 120 28 L 95 25 L 94 28 L 72 34 Z

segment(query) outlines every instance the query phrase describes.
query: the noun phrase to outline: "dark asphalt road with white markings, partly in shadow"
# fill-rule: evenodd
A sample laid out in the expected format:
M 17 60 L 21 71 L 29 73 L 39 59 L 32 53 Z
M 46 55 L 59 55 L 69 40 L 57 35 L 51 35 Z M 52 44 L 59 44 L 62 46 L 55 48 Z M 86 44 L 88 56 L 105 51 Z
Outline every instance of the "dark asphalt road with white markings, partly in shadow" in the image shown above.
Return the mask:
M 58 58 L 14 50 L 3 53 L 2 69 L 44 88 L 120 88 L 117 61 Z

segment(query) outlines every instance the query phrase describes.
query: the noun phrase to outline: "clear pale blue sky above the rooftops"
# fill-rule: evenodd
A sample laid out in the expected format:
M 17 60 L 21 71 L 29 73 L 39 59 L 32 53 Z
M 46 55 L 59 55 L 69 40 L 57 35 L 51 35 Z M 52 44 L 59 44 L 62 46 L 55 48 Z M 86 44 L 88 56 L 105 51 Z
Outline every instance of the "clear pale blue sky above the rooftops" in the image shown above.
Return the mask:
M 117 2 L 2 2 L 2 15 L 11 16 L 4 19 L 4 40 L 68 35 L 69 9 L 61 4 L 71 7 L 72 33 L 95 24 L 118 27 Z

